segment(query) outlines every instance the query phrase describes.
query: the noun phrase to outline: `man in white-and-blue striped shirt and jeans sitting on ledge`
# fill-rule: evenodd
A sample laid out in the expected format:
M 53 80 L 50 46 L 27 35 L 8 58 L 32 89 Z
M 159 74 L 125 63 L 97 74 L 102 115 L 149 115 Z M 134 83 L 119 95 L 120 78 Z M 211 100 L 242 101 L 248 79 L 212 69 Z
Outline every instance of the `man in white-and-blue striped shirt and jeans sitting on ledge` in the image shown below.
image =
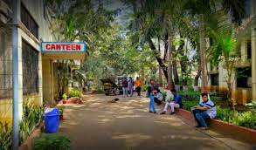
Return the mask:
M 208 99 L 207 93 L 202 93 L 202 102 L 198 106 L 191 107 L 191 113 L 194 116 L 197 126 L 202 129 L 208 129 L 204 119 L 213 119 L 216 117 L 216 106 Z

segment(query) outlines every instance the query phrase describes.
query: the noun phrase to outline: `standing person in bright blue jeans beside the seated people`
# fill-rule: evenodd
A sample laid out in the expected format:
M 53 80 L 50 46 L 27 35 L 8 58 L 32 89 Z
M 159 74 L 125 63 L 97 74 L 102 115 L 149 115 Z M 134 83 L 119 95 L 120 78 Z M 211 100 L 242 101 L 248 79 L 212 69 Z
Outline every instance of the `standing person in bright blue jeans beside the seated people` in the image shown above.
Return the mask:
M 149 113 L 156 113 L 154 98 L 155 98 L 155 94 L 158 90 L 158 87 L 155 85 L 154 79 L 150 79 L 149 83 L 150 83 L 149 88 L 148 88 L 148 95 L 149 95 L 149 99 L 150 99 Z

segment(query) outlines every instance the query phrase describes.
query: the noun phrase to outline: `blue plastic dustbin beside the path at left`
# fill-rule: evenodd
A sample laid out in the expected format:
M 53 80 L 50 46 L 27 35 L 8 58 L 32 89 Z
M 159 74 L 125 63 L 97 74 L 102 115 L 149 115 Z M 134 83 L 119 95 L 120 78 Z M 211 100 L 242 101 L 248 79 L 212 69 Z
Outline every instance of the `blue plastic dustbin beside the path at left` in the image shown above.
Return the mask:
M 51 112 L 44 114 L 45 133 L 57 133 L 59 130 L 59 110 L 52 109 Z

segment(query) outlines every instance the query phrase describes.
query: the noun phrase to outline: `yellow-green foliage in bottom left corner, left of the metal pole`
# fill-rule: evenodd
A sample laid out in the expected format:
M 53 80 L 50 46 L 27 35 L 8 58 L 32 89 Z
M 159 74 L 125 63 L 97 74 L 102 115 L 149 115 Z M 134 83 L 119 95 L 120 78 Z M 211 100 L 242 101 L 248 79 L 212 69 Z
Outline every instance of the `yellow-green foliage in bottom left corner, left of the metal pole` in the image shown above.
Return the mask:
M 0 149 L 9 150 L 12 147 L 12 128 L 7 122 L 0 121 Z

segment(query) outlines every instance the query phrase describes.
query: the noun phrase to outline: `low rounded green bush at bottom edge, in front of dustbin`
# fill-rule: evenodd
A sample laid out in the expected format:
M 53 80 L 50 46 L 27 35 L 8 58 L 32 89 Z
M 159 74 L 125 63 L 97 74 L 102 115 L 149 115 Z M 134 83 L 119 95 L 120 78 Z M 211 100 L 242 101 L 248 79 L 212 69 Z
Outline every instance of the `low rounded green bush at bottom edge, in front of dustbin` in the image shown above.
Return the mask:
M 35 138 L 32 143 L 32 150 L 70 150 L 71 141 L 59 133 L 43 133 Z

